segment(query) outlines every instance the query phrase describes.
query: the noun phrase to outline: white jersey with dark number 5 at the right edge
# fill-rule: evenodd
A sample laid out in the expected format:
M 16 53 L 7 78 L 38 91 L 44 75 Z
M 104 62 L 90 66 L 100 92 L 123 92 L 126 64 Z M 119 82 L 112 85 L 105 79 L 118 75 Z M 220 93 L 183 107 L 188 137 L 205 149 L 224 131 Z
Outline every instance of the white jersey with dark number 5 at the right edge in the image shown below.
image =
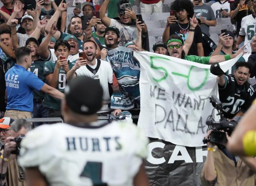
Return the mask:
M 253 14 L 242 18 L 239 35 L 245 36 L 244 45 L 246 46 L 244 47 L 244 51 L 247 51 L 247 53 L 251 53 L 252 49 L 250 46 L 250 42 L 252 41 L 252 37 L 256 35 L 256 19 Z

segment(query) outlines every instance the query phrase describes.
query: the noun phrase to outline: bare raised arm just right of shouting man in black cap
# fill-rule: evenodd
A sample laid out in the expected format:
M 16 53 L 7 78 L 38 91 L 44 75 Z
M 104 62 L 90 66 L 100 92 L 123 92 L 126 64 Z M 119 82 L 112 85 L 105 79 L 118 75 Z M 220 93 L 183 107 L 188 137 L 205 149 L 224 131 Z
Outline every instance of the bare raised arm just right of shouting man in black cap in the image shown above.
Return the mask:
M 57 31 L 57 28 L 56 28 L 56 25 L 54 22 L 54 23 L 52 23 L 52 26 L 51 26 L 50 31 L 47 34 L 46 38 L 39 45 L 39 47 L 37 49 L 37 53 L 42 59 L 48 59 L 48 57 L 50 55 L 50 51 L 48 49 L 48 43 L 50 42 L 52 35 L 54 35 L 54 33 L 56 33 L 56 31 Z

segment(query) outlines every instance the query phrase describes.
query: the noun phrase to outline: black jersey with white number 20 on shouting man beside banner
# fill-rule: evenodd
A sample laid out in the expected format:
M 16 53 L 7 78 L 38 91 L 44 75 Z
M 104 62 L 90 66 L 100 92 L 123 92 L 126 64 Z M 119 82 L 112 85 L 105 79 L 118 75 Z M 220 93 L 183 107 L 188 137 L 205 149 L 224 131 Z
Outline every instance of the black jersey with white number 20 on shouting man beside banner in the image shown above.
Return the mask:
M 238 111 L 246 112 L 254 100 L 254 88 L 245 82 L 239 88 L 234 75 L 225 75 L 224 87 L 219 86 L 220 101 L 224 117 L 233 118 Z

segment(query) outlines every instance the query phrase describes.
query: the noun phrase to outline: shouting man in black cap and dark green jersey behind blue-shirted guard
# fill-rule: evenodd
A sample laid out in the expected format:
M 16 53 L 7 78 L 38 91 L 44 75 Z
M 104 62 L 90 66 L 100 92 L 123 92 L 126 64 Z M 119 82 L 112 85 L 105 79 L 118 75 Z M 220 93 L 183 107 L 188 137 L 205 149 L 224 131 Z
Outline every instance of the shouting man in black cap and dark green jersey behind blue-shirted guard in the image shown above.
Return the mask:
M 45 82 L 45 77 L 44 77 L 44 63 L 46 61 L 42 60 L 39 58 L 39 55 L 37 54 L 37 49 L 38 49 L 38 41 L 34 37 L 28 38 L 26 41 L 26 47 L 30 49 L 30 53 L 32 56 L 32 64 L 31 67 L 28 68 L 28 71 L 33 72 L 42 80 Z M 33 117 L 38 118 L 38 117 L 47 117 L 47 108 L 43 106 L 43 100 L 44 100 L 44 92 L 34 90 L 34 107 L 33 107 Z M 35 127 L 39 126 L 40 122 L 33 122 L 33 125 Z

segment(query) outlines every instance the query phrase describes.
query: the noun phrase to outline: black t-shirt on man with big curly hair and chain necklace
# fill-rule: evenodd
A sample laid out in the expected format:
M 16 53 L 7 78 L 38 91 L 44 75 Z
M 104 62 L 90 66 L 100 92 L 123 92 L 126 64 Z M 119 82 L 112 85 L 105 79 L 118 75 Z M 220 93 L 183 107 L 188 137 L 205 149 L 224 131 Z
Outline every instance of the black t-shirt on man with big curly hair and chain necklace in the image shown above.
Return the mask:
M 188 32 L 190 29 L 190 25 L 188 25 L 188 24 L 189 23 L 171 24 L 170 25 L 170 35 L 176 34 L 176 35 L 180 36 L 185 41 L 186 38 L 188 37 Z M 202 43 L 202 42 L 203 42 L 202 31 L 201 31 L 200 27 L 197 25 L 195 28 L 193 43 L 190 47 L 190 50 L 188 51 L 188 55 L 198 55 L 196 44 Z

